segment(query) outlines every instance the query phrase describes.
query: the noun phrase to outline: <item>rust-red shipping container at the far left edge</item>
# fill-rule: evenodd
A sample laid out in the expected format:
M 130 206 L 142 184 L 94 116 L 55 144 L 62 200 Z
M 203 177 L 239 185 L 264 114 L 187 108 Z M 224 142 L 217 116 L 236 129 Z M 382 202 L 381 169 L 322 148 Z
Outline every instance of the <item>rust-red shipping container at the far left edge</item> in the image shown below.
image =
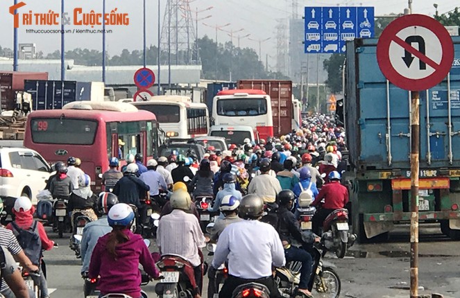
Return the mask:
M 24 80 L 48 80 L 48 73 L 0 71 L 1 111 L 15 109 L 15 91 L 24 91 Z

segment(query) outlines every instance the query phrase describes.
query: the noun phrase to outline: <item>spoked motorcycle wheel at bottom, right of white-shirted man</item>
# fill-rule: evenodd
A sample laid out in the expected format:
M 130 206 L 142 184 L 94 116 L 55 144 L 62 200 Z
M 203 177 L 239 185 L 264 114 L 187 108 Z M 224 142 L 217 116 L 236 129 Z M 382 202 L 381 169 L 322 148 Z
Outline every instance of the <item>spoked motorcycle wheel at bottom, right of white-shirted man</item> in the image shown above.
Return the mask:
M 316 275 L 312 294 L 315 298 L 338 298 L 341 290 L 339 275 L 332 268 L 323 268 L 321 277 Z

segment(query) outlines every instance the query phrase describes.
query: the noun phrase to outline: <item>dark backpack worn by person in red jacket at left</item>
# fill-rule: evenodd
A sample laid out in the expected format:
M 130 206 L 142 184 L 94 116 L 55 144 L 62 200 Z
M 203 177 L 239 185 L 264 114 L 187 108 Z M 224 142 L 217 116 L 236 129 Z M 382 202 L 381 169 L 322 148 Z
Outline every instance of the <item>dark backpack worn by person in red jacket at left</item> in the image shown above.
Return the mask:
M 24 249 L 24 253 L 34 265 L 40 264 L 42 257 L 42 240 L 37 230 L 37 221 L 33 221 L 32 227 L 21 229 L 16 222 L 11 222 L 13 233 L 17 238 L 17 242 Z

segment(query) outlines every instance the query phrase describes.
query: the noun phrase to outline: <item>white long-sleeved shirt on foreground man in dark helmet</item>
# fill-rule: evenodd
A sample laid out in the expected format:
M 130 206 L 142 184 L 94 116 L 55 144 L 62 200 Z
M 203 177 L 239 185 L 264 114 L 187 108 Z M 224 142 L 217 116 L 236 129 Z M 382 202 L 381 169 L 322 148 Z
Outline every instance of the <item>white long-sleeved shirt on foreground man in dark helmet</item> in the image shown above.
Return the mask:
M 228 272 L 241 279 L 270 277 L 271 265 L 286 263 L 280 236 L 275 228 L 258 220 L 242 220 L 228 225 L 219 236 L 212 266 L 228 259 Z

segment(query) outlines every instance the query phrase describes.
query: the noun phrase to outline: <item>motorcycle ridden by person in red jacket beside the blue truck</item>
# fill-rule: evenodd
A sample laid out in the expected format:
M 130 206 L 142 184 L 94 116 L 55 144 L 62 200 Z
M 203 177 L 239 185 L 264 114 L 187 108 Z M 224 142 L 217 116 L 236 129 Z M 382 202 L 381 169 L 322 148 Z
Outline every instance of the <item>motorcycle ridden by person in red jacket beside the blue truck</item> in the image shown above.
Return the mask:
M 348 210 L 334 210 L 323 222 L 321 241 L 328 250 L 334 251 L 338 258 L 343 258 L 347 249 L 356 240 L 356 235 L 350 234 L 349 230 Z

